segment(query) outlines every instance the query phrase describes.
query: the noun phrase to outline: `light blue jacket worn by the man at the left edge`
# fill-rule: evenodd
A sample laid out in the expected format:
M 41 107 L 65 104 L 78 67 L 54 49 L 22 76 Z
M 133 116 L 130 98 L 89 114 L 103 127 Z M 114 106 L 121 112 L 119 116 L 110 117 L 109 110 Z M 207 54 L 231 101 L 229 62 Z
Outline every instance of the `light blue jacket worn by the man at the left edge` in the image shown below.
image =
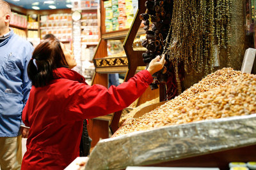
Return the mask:
M 0 137 L 19 135 L 21 114 L 29 97 L 27 67 L 33 46 L 10 31 L 0 41 Z

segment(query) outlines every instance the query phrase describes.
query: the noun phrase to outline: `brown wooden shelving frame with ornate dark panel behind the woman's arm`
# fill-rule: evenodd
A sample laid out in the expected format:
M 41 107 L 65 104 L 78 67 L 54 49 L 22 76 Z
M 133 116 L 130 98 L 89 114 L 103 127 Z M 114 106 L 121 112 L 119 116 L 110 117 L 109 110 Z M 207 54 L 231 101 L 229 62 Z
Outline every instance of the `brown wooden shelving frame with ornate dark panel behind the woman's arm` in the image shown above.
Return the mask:
M 143 51 L 135 51 L 132 49 L 132 43 L 136 35 L 145 34 L 143 27 L 141 27 L 141 20 L 139 15 L 145 12 L 145 1 L 139 1 L 139 8 L 134 17 L 134 21 L 130 29 L 122 29 L 119 31 L 106 32 L 105 29 L 105 9 L 103 1 L 100 1 L 100 31 L 102 32 L 99 45 L 93 57 L 95 64 L 95 76 L 92 84 L 100 84 L 108 88 L 108 74 L 109 73 L 125 73 L 124 81 L 132 78 L 137 71 L 138 66 L 145 66 L 142 60 Z M 125 39 L 124 50 L 127 57 L 111 57 L 108 58 L 107 43 L 112 39 Z M 106 57 L 106 58 L 105 58 Z M 118 60 L 119 64 L 116 64 Z M 111 64 L 109 64 L 109 62 Z M 150 87 L 138 100 L 138 105 L 150 101 L 159 96 L 159 90 L 151 90 Z M 92 140 L 92 147 L 97 144 L 100 138 L 109 138 L 109 129 L 113 134 L 118 129 L 118 122 L 122 110 L 113 113 L 111 120 L 109 119 L 91 119 L 89 120 L 88 132 Z M 99 135 L 100 132 L 100 135 Z

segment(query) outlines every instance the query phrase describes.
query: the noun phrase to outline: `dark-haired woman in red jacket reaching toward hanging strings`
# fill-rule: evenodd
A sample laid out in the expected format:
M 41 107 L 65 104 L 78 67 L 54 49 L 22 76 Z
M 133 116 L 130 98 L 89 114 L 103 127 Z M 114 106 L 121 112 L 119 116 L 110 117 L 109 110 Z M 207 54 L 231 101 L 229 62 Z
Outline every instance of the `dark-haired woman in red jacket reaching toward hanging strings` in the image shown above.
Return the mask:
M 164 57 L 150 62 L 129 81 L 111 86 L 88 85 L 72 67 L 76 60 L 58 39 L 36 46 L 28 64 L 32 89 L 22 113 L 29 129 L 21 169 L 64 169 L 79 156 L 83 120 L 129 106 L 163 68 Z

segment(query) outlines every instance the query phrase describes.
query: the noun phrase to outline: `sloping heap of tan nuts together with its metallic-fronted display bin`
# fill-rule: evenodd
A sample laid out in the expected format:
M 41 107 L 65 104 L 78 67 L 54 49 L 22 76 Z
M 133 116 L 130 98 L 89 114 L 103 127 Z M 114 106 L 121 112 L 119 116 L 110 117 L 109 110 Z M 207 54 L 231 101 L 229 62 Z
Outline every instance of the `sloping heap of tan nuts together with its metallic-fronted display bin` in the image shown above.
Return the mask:
M 226 150 L 225 159 L 214 162 L 221 169 L 234 157 L 252 160 L 252 153 L 244 157 L 248 150 L 243 147 L 256 145 L 255 87 L 254 74 L 241 74 L 231 68 L 209 74 L 175 99 L 128 121 L 116 131 L 115 138 L 100 141 L 86 169 L 172 164 L 215 152 L 220 155 Z M 105 152 L 111 156 L 104 157 Z M 92 167 L 96 157 L 102 164 Z

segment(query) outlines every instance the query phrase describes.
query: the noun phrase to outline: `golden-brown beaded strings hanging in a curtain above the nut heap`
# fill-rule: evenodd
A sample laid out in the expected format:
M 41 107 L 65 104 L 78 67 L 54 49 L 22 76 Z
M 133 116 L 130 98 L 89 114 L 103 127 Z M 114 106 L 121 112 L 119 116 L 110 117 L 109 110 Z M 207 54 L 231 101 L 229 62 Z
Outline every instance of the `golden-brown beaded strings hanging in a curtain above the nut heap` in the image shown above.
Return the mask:
M 209 74 L 213 71 L 214 50 L 220 52 L 220 48 L 226 48 L 230 67 L 231 3 L 231 0 L 173 1 L 168 58 L 175 64 L 183 62 L 186 73 L 194 70 Z M 175 49 L 173 42 L 177 43 Z

